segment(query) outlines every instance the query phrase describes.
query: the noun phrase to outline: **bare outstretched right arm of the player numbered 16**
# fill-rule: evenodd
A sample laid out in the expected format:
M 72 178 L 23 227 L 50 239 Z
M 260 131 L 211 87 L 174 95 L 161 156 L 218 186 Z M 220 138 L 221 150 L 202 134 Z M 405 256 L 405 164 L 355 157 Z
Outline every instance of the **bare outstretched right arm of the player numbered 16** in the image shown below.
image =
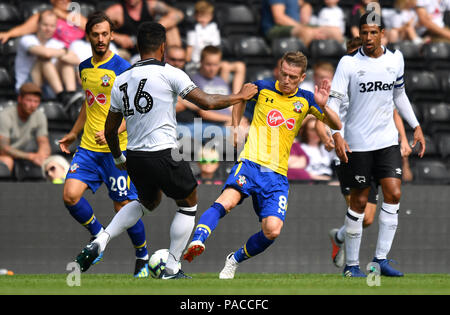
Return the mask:
M 258 92 L 256 85 L 252 83 L 246 83 L 237 94 L 220 95 L 220 94 L 208 94 L 201 89 L 196 88 L 192 90 L 186 99 L 201 109 L 204 110 L 217 110 L 229 107 L 239 102 L 247 101 L 251 99 Z

